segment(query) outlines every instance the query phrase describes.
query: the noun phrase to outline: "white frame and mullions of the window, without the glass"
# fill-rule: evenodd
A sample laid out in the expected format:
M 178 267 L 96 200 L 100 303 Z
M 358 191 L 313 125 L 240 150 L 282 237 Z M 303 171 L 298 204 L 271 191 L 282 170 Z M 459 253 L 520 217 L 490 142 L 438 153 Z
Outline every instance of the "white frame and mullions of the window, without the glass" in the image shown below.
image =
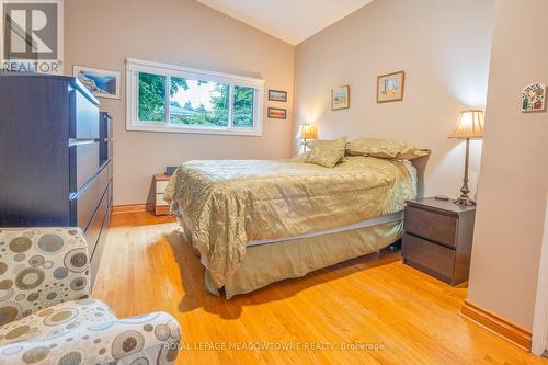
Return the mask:
M 189 126 L 170 123 L 169 119 L 169 95 L 165 100 L 165 122 L 139 121 L 139 72 L 155 73 L 167 77 L 169 85 L 171 77 L 210 81 L 230 85 L 230 101 L 232 101 L 233 87 L 247 87 L 255 89 L 253 105 L 253 128 L 233 126 L 232 102 L 229 106 L 229 122 L 227 127 L 219 126 Z M 168 89 L 167 89 L 168 90 Z M 151 62 L 135 58 L 126 59 L 126 130 L 140 132 L 164 132 L 164 133 L 191 133 L 212 135 L 239 135 L 262 136 L 263 135 L 263 100 L 264 80 L 224 72 L 206 71 L 175 65 Z

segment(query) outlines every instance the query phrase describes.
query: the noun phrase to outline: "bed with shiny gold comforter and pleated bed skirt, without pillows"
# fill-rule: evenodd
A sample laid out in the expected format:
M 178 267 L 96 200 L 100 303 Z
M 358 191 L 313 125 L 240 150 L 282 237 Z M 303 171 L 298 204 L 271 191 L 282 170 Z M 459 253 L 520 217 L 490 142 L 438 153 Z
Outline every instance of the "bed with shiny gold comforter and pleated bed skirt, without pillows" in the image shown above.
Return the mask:
M 206 289 L 230 298 L 391 244 L 415 195 L 410 162 L 356 156 L 334 168 L 299 158 L 189 161 L 165 199 Z

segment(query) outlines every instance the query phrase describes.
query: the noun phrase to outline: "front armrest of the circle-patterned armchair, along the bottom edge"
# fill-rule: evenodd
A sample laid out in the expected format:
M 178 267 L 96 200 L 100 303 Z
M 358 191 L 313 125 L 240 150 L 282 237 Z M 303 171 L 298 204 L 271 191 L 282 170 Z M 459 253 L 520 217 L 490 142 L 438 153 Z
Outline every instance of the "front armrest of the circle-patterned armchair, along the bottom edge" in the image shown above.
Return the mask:
M 34 365 L 173 364 L 180 339 L 176 320 L 155 312 L 0 347 L 0 365 L 26 365 L 31 356 Z

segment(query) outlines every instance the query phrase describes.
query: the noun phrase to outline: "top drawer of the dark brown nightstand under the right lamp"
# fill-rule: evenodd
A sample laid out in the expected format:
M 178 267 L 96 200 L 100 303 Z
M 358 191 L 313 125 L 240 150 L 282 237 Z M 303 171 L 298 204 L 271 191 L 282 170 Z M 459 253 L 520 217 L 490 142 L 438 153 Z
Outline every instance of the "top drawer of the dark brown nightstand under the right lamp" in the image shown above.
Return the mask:
M 403 229 L 433 241 L 456 246 L 457 218 L 411 206 L 406 207 Z

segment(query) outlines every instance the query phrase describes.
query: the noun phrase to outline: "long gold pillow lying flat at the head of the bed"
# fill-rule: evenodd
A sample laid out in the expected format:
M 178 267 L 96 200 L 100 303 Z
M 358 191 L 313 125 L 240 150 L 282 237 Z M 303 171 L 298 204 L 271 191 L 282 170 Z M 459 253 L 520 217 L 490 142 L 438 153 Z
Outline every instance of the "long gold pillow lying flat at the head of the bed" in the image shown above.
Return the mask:
M 412 160 L 430 155 L 427 149 L 419 149 L 399 140 L 354 139 L 346 146 L 349 155 L 372 156 L 385 159 Z

